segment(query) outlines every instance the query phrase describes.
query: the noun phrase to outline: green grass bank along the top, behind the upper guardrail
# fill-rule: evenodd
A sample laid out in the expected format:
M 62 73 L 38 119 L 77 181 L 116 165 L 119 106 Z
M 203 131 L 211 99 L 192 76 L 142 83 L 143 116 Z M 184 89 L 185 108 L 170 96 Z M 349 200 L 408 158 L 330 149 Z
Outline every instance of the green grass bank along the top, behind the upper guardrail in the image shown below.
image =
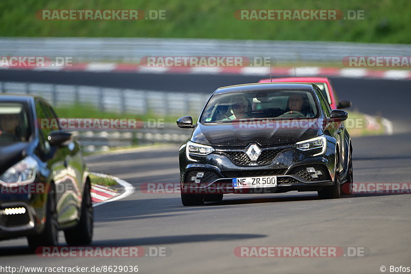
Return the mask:
M 167 10 L 163 21 L 41 21 L 40 9 Z M 239 21 L 237 9 L 364 10 L 364 20 Z M 409 0 L 14 0 L 0 2 L 1 36 L 218 38 L 411 43 Z

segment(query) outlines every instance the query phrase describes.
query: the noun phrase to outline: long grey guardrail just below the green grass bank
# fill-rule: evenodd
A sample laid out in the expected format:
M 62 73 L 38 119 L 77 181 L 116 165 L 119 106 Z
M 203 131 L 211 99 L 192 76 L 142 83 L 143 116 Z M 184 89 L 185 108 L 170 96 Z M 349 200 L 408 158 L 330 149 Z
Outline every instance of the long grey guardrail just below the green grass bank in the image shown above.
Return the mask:
M 74 57 L 138 63 L 145 56 L 246 56 L 278 61 L 341 61 L 345 56 L 408 56 L 411 45 L 161 38 L 0 38 L 2 56 Z

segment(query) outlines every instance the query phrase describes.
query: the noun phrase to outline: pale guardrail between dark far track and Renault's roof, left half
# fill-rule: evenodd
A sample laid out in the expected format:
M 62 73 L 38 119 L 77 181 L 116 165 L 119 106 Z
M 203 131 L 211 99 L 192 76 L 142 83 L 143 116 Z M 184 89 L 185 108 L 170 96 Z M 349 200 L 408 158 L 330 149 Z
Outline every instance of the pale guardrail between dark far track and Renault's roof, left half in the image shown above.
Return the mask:
M 3 94 L 42 96 L 54 107 L 84 103 L 100 111 L 159 116 L 198 114 L 209 95 L 98 86 L 0 82 Z

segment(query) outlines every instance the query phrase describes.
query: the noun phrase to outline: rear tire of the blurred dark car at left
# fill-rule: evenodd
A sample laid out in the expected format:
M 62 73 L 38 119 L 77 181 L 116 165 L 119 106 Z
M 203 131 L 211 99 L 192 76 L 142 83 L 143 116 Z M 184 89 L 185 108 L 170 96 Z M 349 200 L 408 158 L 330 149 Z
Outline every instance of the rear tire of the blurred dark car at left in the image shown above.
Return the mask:
M 90 183 L 87 181 L 83 193 L 79 223 L 64 231 L 68 245 L 88 245 L 93 237 L 93 208 L 91 205 Z

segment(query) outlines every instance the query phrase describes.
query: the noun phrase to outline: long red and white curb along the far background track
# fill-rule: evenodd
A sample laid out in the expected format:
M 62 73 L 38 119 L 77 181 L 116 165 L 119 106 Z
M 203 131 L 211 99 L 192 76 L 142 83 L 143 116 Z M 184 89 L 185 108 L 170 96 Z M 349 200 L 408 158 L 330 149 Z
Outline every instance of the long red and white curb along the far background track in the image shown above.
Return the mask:
M 0 69 L 30 69 L 48 71 L 89 71 L 89 72 L 132 72 L 141 74 L 208 74 L 268 76 L 270 67 L 147 67 L 137 64 L 120 63 L 79 63 L 75 66 L 49 67 L 5 67 Z M 342 78 L 374 78 L 390 80 L 411 80 L 411 70 L 406 69 L 367 69 L 332 67 L 279 67 L 273 66 L 271 73 L 276 76 L 325 76 Z

